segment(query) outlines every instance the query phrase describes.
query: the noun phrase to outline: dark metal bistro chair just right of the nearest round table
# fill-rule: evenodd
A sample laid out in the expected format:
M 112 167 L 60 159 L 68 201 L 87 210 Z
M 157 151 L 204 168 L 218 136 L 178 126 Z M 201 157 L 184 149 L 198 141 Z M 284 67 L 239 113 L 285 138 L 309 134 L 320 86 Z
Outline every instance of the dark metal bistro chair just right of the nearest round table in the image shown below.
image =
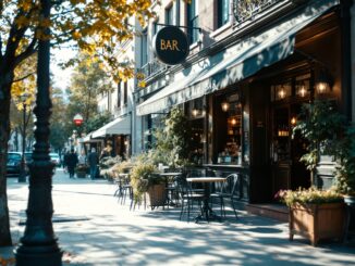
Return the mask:
M 219 191 L 210 194 L 210 201 L 213 203 L 215 200 L 218 200 L 220 203 L 221 216 L 225 217 L 225 199 L 231 201 L 235 218 L 237 219 L 237 214 L 235 211 L 234 200 L 238 199 L 238 182 L 240 174 L 231 174 L 227 176 L 227 181 L 222 182 L 218 188 Z

